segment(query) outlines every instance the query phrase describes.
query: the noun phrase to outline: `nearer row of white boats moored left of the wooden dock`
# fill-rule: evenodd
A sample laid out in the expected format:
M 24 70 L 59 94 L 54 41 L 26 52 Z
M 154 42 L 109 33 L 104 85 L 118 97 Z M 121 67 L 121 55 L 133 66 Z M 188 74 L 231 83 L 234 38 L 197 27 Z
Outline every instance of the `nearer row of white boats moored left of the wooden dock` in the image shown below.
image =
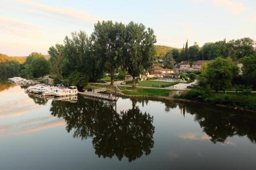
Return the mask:
M 26 89 L 28 93 L 39 93 L 42 96 L 69 96 L 77 95 L 78 89 L 76 86 L 65 87 L 62 84 L 52 86 L 49 84 L 37 84 Z

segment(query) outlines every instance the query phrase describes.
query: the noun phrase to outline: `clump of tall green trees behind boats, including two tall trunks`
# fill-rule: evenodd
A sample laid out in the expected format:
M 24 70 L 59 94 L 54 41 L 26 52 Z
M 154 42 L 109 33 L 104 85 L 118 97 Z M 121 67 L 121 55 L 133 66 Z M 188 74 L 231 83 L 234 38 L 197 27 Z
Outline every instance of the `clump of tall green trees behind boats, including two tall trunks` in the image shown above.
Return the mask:
M 51 71 L 59 81 L 84 86 L 102 78 L 104 71 L 109 72 L 113 84 L 115 70 L 122 68 L 133 77 L 135 86 L 135 78 L 152 69 L 155 42 L 153 29 L 142 23 L 98 21 L 90 36 L 74 32 L 63 44 L 49 48 Z

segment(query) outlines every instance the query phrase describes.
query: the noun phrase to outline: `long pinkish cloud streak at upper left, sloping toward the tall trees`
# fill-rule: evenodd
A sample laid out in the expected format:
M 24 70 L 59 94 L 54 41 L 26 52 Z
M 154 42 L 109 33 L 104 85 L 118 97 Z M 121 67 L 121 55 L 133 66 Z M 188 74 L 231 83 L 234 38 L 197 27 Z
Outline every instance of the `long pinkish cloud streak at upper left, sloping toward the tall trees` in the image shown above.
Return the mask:
M 99 20 L 99 18 L 96 18 L 86 12 L 81 12 L 78 11 L 74 8 L 70 8 L 70 9 L 61 9 L 61 8 L 56 8 L 56 7 L 52 7 L 49 5 L 44 5 L 44 4 L 40 4 L 40 3 L 35 3 L 35 2 L 31 2 L 31 1 L 27 1 L 27 0 L 18 0 L 18 2 L 26 4 L 26 5 L 30 5 L 33 6 L 35 8 L 38 8 L 40 10 L 44 10 L 46 12 L 50 12 L 53 14 L 57 14 L 63 17 L 71 17 L 71 18 L 75 18 L 78 20 L 82 20 L 82 21 L 87 21 L 87 22 L 92 22 L 95 23 L 95 21 Z

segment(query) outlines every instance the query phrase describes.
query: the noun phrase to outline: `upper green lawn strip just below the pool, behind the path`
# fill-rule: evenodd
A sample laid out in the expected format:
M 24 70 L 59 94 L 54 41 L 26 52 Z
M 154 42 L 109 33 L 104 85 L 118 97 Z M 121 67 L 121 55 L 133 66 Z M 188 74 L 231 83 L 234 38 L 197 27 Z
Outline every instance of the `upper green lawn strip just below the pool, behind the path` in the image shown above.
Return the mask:
M 163 85 L 164 87 L 173 86 L 175 84 L 178 84 L 179 82 L 161 82 L 161 81 L 153 81 L 153 80 L 145 80 L 145 81 L 139 81 L 139 83 L 136 83 L 137 86 L 142 87 L 161 87 Z M 127 83 L 126 85 L 132 85 L 132 83 Z

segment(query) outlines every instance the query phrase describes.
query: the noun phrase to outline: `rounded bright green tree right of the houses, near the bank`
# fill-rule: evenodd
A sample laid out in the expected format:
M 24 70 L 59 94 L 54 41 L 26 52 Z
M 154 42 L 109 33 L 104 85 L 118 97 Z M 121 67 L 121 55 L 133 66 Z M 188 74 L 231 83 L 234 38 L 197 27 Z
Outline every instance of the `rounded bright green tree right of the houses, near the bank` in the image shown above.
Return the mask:
M 216 58 L 207 64 L 207 69 L 203 75 L 211 88 L 216 91 L 226 90 L 231 86 L 234 76 L 237 76 L 239 68 L 232 63 L 230 58 Z

